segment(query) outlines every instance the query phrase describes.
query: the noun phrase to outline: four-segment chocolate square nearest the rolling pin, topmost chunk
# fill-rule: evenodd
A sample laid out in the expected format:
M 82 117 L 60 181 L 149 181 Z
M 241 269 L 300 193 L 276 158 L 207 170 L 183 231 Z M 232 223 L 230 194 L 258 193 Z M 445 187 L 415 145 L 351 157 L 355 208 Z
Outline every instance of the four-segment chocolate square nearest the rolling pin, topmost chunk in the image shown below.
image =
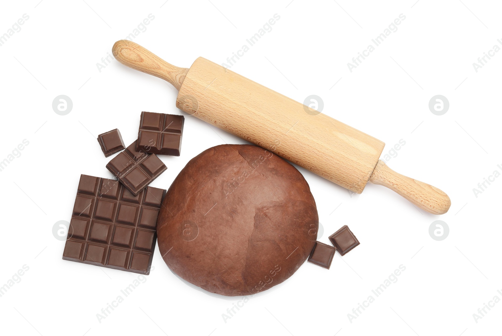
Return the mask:
M 180 156 L 184 122 L 182 115 L 141 112 L 136 150 Z

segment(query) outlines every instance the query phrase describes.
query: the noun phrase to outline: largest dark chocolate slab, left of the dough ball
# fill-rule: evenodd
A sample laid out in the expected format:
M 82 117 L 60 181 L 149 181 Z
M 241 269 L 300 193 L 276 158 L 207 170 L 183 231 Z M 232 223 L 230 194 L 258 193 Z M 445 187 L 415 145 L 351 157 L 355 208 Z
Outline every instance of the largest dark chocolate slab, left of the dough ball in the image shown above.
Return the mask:
M 165 190 L 134 196 L 118 181 L 80 176 L 64 260 L 149 274 Z

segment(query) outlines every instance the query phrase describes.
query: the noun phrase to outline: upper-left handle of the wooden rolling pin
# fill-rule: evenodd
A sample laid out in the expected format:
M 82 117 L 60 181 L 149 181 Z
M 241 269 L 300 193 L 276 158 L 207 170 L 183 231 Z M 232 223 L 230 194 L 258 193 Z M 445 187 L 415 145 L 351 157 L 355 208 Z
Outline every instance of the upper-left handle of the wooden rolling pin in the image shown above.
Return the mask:
M 130 68 L 162 78 L 178 90 L 188 72 L 187 68 L 179 68 L 167 63 L 157 55 L 129 40 L 115 42 L 111 49 L 115 59 Z

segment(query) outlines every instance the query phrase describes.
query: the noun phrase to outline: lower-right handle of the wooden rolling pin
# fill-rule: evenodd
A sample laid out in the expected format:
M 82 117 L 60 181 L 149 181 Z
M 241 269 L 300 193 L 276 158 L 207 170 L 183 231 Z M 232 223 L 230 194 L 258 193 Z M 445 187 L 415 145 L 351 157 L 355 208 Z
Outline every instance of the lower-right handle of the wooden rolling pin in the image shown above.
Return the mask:
M 395 191 L 420 209 L 432 214 L 442 215 L 450 209 L 450 198 L 442 190 L 396 173 L 382 160 L 376 163 L 369 181 Z

